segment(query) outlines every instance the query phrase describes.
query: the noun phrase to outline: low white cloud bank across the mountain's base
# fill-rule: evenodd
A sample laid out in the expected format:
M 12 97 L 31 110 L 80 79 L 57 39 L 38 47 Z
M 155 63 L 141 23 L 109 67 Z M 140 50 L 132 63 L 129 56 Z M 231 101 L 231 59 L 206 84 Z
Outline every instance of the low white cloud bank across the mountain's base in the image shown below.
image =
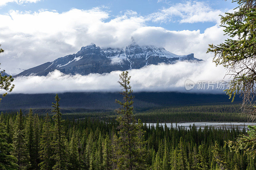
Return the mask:
M 223 67 L 216 67 L 211 61 L 202 63 L 178 62 L 176 64 L 149 65 L 141 69 L 129 70 L 134 92 L 198 92 L 223 93 L 223 90 L 207 89 L 208 81 L 223 80 Z M 121 71 L 106 74 L 66 75 L 54 70 L 47 76 L 17 77 L 15 88 L 11 93 L 60 93 L 60 92 L 117 92 L 117 83 Z M 186 90 L 185 81 L 205 81 L 205 89 Z

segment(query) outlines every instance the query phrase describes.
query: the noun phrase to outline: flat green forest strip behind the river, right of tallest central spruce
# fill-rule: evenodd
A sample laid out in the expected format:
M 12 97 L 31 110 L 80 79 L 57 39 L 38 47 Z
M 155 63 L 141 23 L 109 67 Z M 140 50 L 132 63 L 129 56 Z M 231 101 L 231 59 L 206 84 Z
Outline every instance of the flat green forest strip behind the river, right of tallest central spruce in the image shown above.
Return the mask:
M 247 122 L 240 105 L 199 105 L 149 109 L 135 114 L 143 122 Z

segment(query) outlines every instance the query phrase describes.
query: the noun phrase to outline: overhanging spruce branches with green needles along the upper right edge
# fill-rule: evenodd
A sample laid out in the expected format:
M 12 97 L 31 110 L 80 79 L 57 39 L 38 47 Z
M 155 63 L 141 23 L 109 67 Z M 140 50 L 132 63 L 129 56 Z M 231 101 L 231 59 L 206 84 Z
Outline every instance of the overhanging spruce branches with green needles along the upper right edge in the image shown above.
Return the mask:
M 223 65 L 232 80 L 226 93 L 234 100 L 236 94 L 243 97 L 243 112 L 255 118 L 253 99 L 256 93 L 256 4 L 250 0 L 233 0 L 238 10 L 221 16 L 221 26 L 230 38 L 219 45 L 209 45 L 207 52 L 213 52 L 213 62 Z M 232 97 L 233 96 L 233 97 Z M 249 104 L 249 106 L 247 106 Z

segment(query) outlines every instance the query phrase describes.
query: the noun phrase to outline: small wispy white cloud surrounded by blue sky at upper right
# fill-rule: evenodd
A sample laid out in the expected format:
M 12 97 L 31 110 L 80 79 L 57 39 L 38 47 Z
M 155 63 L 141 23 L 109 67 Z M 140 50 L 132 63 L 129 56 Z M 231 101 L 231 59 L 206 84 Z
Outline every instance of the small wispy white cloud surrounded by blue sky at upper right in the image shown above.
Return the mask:
M 187 1 L 174 4 L 169 8 L 163 8 L 158 12 L 150 14 L 148 18 L 154 22 L 218 23 L 220 21 L 220 14 L 224 14 L 224 11 L 214 10 L 205 2 Z

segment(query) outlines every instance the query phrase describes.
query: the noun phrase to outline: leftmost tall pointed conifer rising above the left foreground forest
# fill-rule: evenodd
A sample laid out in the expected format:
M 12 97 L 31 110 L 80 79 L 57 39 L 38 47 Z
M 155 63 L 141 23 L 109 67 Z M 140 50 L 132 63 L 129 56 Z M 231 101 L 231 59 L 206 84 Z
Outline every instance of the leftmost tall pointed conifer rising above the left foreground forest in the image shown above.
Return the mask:
M 15 120 L 15 130 L 13 136 L 13 146 L 14 150 L 12 151 L 12 155 L 16 157 L 18 160 L 19 170 L 27 169 L 30 166 L 28 150 L 26 147 L 25 140 L 25 130 L 24 130 L 24 121 L 22 116 L 22 111 L 20 109 L 20 113 L 17 113 Z

